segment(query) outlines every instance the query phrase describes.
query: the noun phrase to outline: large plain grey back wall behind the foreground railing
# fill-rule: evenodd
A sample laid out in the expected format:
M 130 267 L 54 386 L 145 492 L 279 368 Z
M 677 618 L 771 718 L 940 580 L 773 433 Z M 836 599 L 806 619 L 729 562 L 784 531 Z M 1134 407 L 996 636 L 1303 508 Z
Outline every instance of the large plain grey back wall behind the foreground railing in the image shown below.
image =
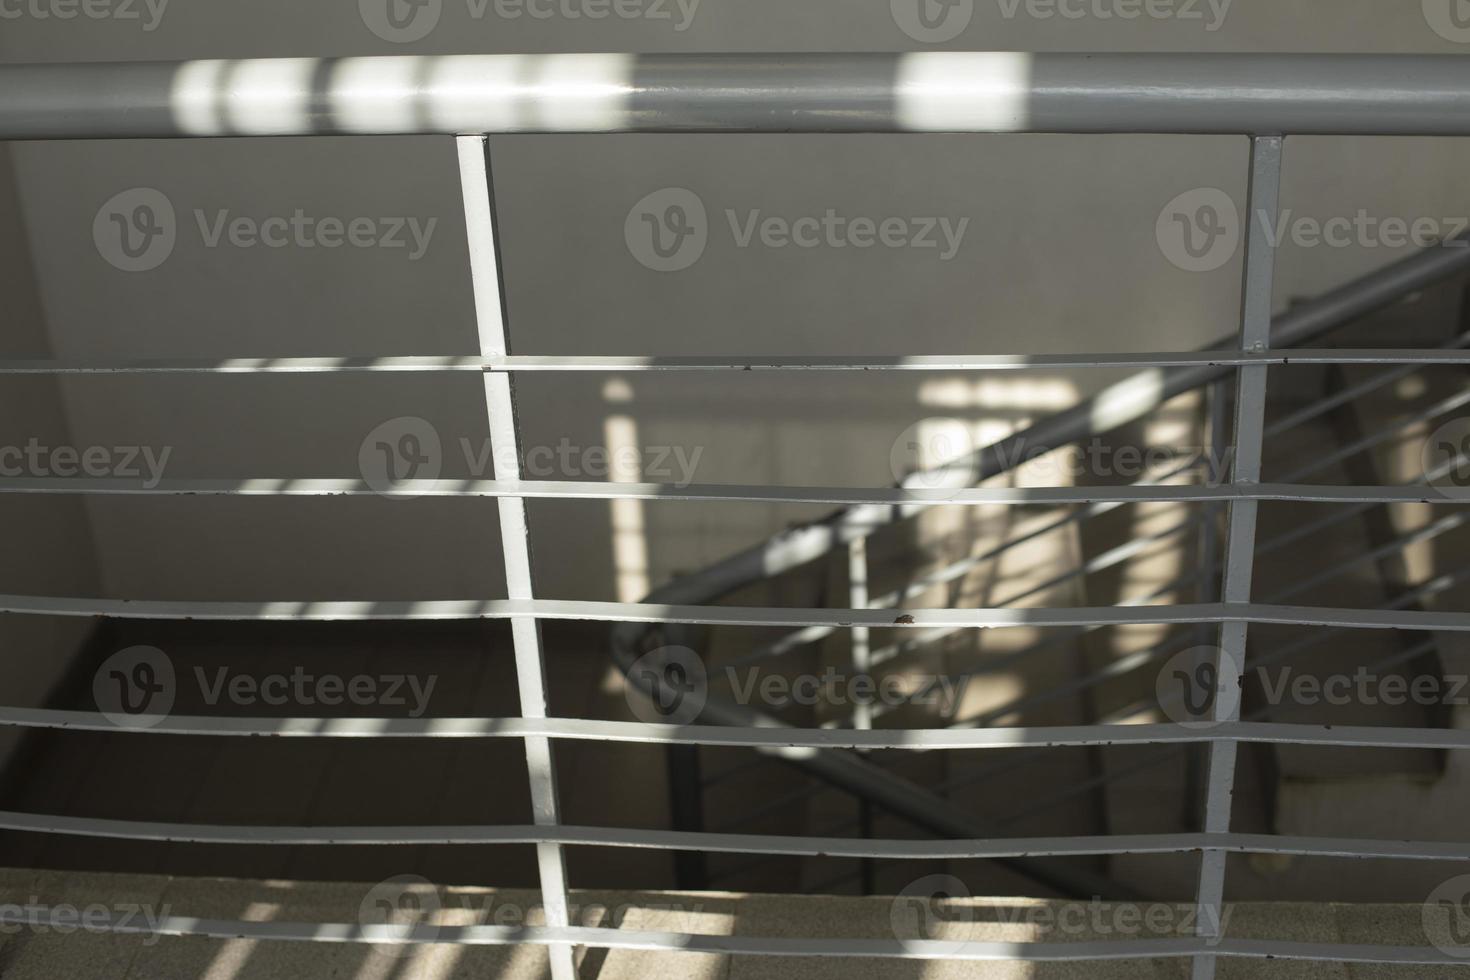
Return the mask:
M 1098 4 L 1089 3 L 1086 9 Z M 375 37 L 359 4 L 175 0 L 143 21 L 6 21 L 0 59 L 100 60 L 463 51 L 916 50 L 885 0 L 703 0 L 679 21 L 482 19 L 445 0 L 426 38 Z M 154 7 L 156 9 L 156 7 Z M 1007 16 L 1008 10 L 1017 10 Z M 1419 3 L 1236 0 L 1200 21 L 1038 18 L 976 0 L 947 44 L 997 50 L 1470 53 Z M 1039 7 L 1045 10 L 1045 7 Z M 1078 9 L 1075 4 L 1072 9 Z M 1111 4 L 1104 4 L 1111 9 Z M 1210 4 L 1201 3 L 1205 10 Z M 1219 4 L 1216 6 L 1219 9 Z M 1244 195 L 1244 140 L 1158 137 L 516 137 L 492 141 L 509 309 L 519 353 L 1028 353 L 1188 348 L 1233 329 L 1239 263 L 1192 273 L 1155 241 L 1161 209 L 1194 188 Z M 28 144 L 13 148 L 50 341 L 60 356 L 269 357 L 472 353 L 475 325 L 453 143 L 447 138 Z M 1298 215 L 1470 215 L 1464 141 L 1295 140 Z M 163 192 L 178 242 L 148 272 L 107 264 L 98 210 Z M 709 209 L 710 245 L 684 272 L 638 264 L 629 210 L 681 187 Z M 437 220 L 429 248 L 207 247 L 229 216 Z M 738 220 L 969 219 L 963 247 L 741 248 Z M 1398 253 L 1282 248 L 1279 297 L 1310 295 Z M 1030 379 L 522 379 L 531 447 L 642 444 L 700 451 L 698 482 L 883 485 L 914 422 L 960 416 L 1004 432 L 1088 391 L 1098 373 Z M 63 385 L 82 444 L 172 447 L 169 476 L 356 476 L 365 436 L 422 416 L 485 435 L 473 379 L 82 379 Z M 656 457 L 648 455 L 653 461 Z M 588 463 L 585 457 L 584 463 Z M 595 460 L 591 460 L 595 463 Z M 562 466 L 551 476 L 584 476 Z M 594 467 L 595 469 L 595 467 Z M 488 501 L 88 501 L 103 588 L 172 598 L 413 598 L 498 594 Z M 544 592 L 637 598 L 816 511 L 788 507 L 537 504 Z

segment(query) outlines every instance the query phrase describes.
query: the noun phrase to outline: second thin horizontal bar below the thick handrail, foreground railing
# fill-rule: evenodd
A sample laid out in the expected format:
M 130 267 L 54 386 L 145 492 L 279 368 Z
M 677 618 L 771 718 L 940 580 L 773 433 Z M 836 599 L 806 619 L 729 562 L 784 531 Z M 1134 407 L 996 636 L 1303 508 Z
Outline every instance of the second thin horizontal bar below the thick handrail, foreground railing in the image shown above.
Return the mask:
M 1470 398 L 1470 395 L 1466 395 Z M 606 480 L 398 480 L 375 488 L 360 479 L 93 479 L 0 478 L 0 494 L 88 497 L 528 497 L 535 500 L 672 500 L 707 502 L 845 504 L 895 507 L 1023 507 L 1073 504 L 1208 504 L 1286 501 L 1311 504 L 1467 504 L 1467 488 L 1338 486 L 1329 483 L 1241 483 L 1217 486 L 966 486 L 850 488 L 739 483 L 613 483 Z

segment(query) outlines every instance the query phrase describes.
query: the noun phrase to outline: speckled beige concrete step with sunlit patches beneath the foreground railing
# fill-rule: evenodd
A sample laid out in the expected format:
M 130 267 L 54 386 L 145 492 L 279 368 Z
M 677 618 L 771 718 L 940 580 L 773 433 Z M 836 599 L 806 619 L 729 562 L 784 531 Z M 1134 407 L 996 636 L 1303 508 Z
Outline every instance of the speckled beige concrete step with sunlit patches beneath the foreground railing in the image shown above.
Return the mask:
M 301 880 L 184 879 L 0 870 L 0 901 L 76 908 L 132 904 L 154 914 L 256 921 L 356 923 L 372 884 Z M 419 886 L 438 907 L 425 921 L 541 924 L 535 892 Z M 432 908 L 431 905 L 431 908 Z M 578 924 L 625 930 L 766 937 L 892 939 L 894 899 L 731 892 L 575 892 Z M 1152 909 L 1152 911 L 1151 911 Z M 900 909 L 901 911 L 901 909 Z M 919 911 L 919 909 L 913 909 Z M 1038 899 L 956 899 L 933 909 L 935 939 L 1064 942 L 1169 939 L 1191 927 L 1185 907 L 1066 904 Z M 1130 924 L 1132 923 L 1132 924 Z M 1238 904 L 1227 923 L 1242 939 L 1426 943 L 1419 905 Z M 545 954 L 534 946 L 412 949 L 335 943 L 263 943 L 243 939 L 159 939 L 25 929 L 0 937 L 7 980 L 275 980 L 278 977 L 394 977 L 394 980 L 541 980 Z M 704 954 L 585 951 L 581 971 L 597 980 L 1175 980 L 1177 959 L 1094 964 L 963 964 L 883 959 L 731 958 Z M 1349 967 L 1289 961 L 1223 961 L 1220 977 L 1264 980 L 1438 980 L 1463 967 Z

